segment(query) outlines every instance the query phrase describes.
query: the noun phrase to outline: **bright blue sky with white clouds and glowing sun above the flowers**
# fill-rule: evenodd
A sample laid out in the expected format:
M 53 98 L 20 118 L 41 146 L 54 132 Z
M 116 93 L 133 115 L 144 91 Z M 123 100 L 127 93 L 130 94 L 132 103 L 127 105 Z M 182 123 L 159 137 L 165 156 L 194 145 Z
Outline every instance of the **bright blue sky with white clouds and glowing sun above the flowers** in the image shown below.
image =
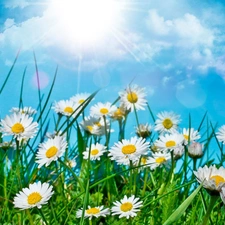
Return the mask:
M 174 111 L 183 122 L 191 114 L 197 126 L 207 111 L 225 124 L 224 1 L 82 2 L 0 0 L 1 83 L 20 49 L 1 118 L 18 106 L 25 68 L 24 104 L 37 106 L 35 53 L 42 94 L 58 66 L 52 101 L 100 88 L 95 100 L 113 102 L 132 82 L 146 88 L 155 114 Z

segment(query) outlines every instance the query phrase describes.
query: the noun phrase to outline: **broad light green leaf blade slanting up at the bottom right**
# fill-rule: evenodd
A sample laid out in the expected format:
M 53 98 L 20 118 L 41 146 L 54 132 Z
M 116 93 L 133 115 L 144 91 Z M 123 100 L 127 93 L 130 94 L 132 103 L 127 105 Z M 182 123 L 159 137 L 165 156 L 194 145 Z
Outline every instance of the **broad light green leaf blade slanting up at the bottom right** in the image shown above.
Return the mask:
M 176 222 L 185 212 L 187 207 L 191 204 L 195 196 L 198 194 L 202 185 L 200 185 L 176 210 L 173 214 L 164 222 L 163 225 L 169 225 Z

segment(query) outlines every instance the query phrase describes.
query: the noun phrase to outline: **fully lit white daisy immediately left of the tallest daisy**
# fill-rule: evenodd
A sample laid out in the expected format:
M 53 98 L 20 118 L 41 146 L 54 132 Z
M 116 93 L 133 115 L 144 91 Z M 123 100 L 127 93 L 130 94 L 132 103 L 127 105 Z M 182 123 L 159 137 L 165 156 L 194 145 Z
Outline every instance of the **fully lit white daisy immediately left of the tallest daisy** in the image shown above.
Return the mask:
M 111 105 L 110 102 L 97 103 L 90 108 L 90 115 L 93 117 L 111 116 L 117 110 L 115 105 Z

